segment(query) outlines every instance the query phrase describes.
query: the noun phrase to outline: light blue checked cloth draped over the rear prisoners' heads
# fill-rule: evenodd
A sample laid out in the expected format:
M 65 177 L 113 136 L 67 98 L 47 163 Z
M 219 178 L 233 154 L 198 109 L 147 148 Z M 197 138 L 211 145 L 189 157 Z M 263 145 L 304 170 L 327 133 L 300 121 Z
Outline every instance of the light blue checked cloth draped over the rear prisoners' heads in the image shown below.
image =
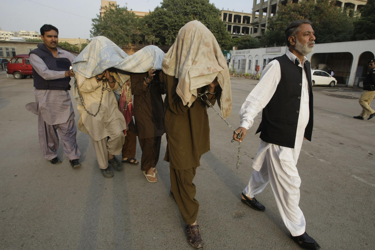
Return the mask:
M 96 36 L 75 58 L 72 69 L 86 78 L 99 75 L 111 67 L 132 73 L 144 73 L 149 69 L 160 70 L 164 55 L 165 53 L 154 45 L 145 46 L 133 55 L 127 55 L 107 37 Z M 118 75 L 120 85 L 130 78 L 125 72 Z

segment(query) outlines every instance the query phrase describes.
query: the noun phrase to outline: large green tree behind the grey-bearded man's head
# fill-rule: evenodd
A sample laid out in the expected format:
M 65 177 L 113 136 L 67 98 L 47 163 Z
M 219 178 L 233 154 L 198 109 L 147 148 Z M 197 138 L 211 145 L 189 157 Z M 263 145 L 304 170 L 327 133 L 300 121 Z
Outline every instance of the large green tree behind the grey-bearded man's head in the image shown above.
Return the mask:
M 345 42 L 351 40 L 353 21 L 335 6 L 335 1 L 317 0 L 289 2 L 280 6 L 277 16 L 269 19 L 266 33 L 261 37 L 263 46 L 286 45 L 284 31 L 288 24 L 298 19 L 309 19 L 315 31 L 315 42 Z

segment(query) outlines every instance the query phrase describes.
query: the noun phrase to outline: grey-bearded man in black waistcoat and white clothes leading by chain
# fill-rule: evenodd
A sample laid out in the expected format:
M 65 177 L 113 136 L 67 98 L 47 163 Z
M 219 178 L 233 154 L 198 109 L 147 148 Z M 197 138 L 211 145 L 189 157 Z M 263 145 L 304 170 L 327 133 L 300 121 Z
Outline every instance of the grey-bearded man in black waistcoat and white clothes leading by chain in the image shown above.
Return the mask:
M 261 144 L 252 162 L 255 171 L 241 195 L 241 201 L 255 210 L 264 211 L 254 195 L 271 183 L 276 204 L 292 239 L 304 249 L 320 249 L 306 234 L 305 217 L 299 208 L 301 179 L 296 164 L 303 139 L 311 141 L 313 110 L 311 67 L 307 54 L 314 47 L 314 30 L 309 20 L 297 20 L 285 30 L 288 50 L 276 57 L 262 72 L 260 82 L 251 91 L 240 111 L 241 124 L 236 130 L 246 131 L 262 111 L 257 133 Z

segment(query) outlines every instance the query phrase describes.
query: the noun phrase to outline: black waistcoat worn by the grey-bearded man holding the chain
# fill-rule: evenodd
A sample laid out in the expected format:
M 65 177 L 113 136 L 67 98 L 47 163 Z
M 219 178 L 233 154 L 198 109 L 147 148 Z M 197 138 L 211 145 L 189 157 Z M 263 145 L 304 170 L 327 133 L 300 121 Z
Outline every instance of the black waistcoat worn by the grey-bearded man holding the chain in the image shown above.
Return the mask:
M 270 102 L 264 107 L 262 121 L 256 133 L 268 143 L 294 148 L 302 92 L 302 67 L 294 64 L 286 54 L 275 58 L 280 63 L 281 79 Z M 304 64 L 309 85 L 309 122 L 305 129 L 305 138 L 311 141 L 313 126 L 313 103 L 311 67 L 309 61 Z

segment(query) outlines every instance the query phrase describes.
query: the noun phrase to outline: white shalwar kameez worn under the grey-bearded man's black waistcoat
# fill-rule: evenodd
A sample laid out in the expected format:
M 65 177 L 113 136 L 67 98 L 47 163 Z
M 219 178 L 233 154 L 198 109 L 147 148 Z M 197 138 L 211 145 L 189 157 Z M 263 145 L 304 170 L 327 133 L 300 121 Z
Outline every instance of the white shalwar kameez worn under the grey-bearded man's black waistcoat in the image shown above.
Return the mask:
M 293 62 L 297 58 L 289 50 L 286 54 Z M 300 62 L 298 58 L 297 60 Z M 309 121 L 308 79 L 303 67 L 306 60 L 307 58 L 304 57 L 302 63 L 299 64 L 303 68 L 302 93 L 294 148 L 282 147 L 261 140 L 259 152 L 252 162 L 252 168 L 255 171 L 243 191 L 246 196 L 253 198 L 270 182 L 282 220 L 293 236 L 302 235 L 306 226 L 305 217 L 298 206 L 301 179 L 296 168 L 305 128 Z M 279 61 L 273 60 L 264 69 L 259 83 L 242 105 L 241 127 L 249 128 L 253 125 L 255 116 L 271 100 L 280 79 Z

